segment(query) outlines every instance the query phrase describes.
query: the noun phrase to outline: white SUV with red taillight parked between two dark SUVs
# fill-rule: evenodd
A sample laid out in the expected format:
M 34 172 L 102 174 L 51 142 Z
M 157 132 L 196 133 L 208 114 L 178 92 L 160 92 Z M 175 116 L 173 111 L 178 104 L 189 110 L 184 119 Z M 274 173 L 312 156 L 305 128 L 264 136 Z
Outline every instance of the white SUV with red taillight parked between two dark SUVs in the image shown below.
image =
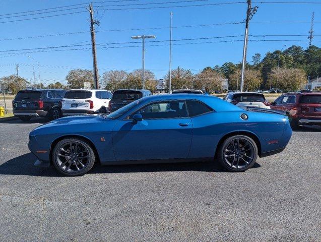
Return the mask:
M 69 90 L 61 100 L 62 115 L 106 113 L 111 96 L 106 90 Z

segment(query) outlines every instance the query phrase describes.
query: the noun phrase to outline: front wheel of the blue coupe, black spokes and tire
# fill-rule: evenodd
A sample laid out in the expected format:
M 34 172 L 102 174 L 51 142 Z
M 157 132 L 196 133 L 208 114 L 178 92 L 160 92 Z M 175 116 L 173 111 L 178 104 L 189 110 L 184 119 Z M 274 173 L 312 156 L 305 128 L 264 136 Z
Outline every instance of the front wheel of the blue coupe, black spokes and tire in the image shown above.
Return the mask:
M 67 176 L 84 175 L 95 163 L 92 147 L 78 138 L 59 141 L 53 148 L 51 158 L 55 169 Z

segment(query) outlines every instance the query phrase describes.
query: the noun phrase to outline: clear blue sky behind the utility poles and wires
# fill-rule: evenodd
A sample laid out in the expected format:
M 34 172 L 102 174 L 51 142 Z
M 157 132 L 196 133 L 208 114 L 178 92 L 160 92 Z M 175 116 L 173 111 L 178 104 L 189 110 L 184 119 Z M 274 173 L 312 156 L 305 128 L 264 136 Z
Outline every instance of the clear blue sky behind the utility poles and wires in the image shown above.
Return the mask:
M 142 3 L 161 3 L 161 2 L 176 2 L 182 0 L 139 0 L 132 2 L 119 3 L 94 3 L 94 9 L 100 5 L 125 5 L 125 4 L 142 4 Z M 243 0 L 245 1 L 245 0 Z M 264 0 L 268 1 L 268 0 Z M 102 9 L 111 8 L 138 8 L 138 7 L 157 7 L 157 6 L 181 6 L 181 5 L 201 5 L 238 2 L 237 0 L 208 0 L 203 2 L 162 4 L 149 6 L 119 6 L 119 7 L 99 7 L 95 16 L 100 19 L 100 26 L 96 26 L 97 31 L 102 30 L 118 30 L 118 29 L 138 29 L 138 28 L 157 28 L 168 27 L 170 11 L 173 12 L 173 26 L 189 26 L 189 25 L 207 25 L 240 22 L 245 19 L 246 4 L 233 5 L 218 5 L 218 6 L 203 6 L 203 7 L 188 7 L 188 8 L 162 8 L 162 9 L 147 9 L 147 10 L 121 10 L 121 11 L 102 11 Z M 288 1 L 282 1 L 288 2 Z M 293 1 L 292 1 L 293 2 Z M 301 1 L 306 2 L 306 1 Z M 320 2 L 320 1 L 311 1 Z M 25 12 L 38 9 L 54 8 L 66 5 L 74 5 L 86 3 L 85 1 L 49 1 L 49 0 L 7 0 L 2 1 L 1 14 L 9 14 L 16 12 Z M 288 42 L 249 42 L 247 60 L 251 61 L 251 56 L 259 52 L 263 56 L 268 51 L 281 49 L 284 44 L 291 46 L 293 44 L 308 46 L 307 35 L 310 29 L 310 23 L 285 23 L 285 21 L 310 21 L 311 13 L 315 12 L 315 22 L 321 21 L 321 4 L 260 4 L 255 3 L 253 6 L 259 6 L 259 10 L 250 23 L 249 34 L 253 35 L 306 35 L 303 37 L 265 37 L 249 39 L 279 39 L 291 40 Z M 48 16 L 54 14 L 70 13 L 75 11 L 85 11 L 85 6 L 74 6 L 69 8 L 82 7 L 70 11 L 61 11 L 56 13 L 47 13 L 39 15 L 30 15 L 17 18 L 5 18 L 12 15 L 0 16 L 0 22 Z M 60 9 L 54 9 L 60 10 Z M 53 10 L 47 10 L 53 11 Z M 44 11 L 46 12 L 46 11 Z M 104 14 L 103 14 L 104 12 Z M 28 13 L 24 13 L 28 14 Z M 24 15 L 19 14 L 19 15 Z M 103 16 L 102 16 L 103 14 Z M 102 17 L 101 17 L 102 16 Z M 57 16 L 51 18 L 41 18 L 35 20 L 26 20 L 20 22 L 0 23 L 0 50 L 28 49 L 48 46 L 61 46 L 78 44 L 90 44 L 89 33 L 89 13 L 77 13 L 72 15 Z M 254 21 L 281 21 L 283 23 L 254 23 Z M 320 35 L 321 23 L 314 24 L 315 35 Z M 20 40 L 3 40 L 9 38 L 30 37 L 40 35 L 50 35 L 59 33 L 82 32 L 87 33 L 60 35 L 41 38 L 27 38 Z M 130 31 L 111 31 L 97 32 L 96 41 L 98 44 L 114 43 L 114 42 L 135 42 L 132 40 L 133 35 L 156 35 L 156 40 L 168 40 L 169 29 L 150 29 L 150 30 L 130 30 Z M 243 35 L 244 24 L 218 25 L 206 27 L 186 27 L 174 28 L 173 39 L 189 39 L 189 38 L 205 38 Z M 186 44 L 176 45 L 177 43 L 200 43 L 210 41 L 223 40 L 242 40 L 243 37 L 230 37 L 226 39 L 207 39 L 207 40 L 188 40 L 174 41 L 172 48 L 172 68 L 178 66 L 190 69 L 192 72 L 197 72 L 208 66 L 222 65 L 225 62 L 238 63 L 242 58 L 243 42 L 230 43 L 203 43 L 203 44 Z M 292 40 L 304 40 L 305 42 L 296 42 Z M 321 40 L 320 37 L 315 37 L 314 40 Z M 85 42 L 87 41 L 87 42 Z M 149 40 L 147 40 L 149 41 Z M 320 46 L 321 42 L 314 42 L 314 45 Z M 169 46 L 148 46 L 151 44 L 168 44 L 161 43 L 146 43 L 146 69 L 152 70 L 156 78 L 163 78 L 167 73 L 169 65 Z M 141 68 L 141 43 L 134 44 L 111 44 L 104 47 L 128 46 L 137 45 L 139 47 L 128 48 L 108 48 L 97 49 L 99 74 L 110 69 L 123 69 L 132 71 Z M 69 48 L 90 48 L 90 45 L 69 47 Z M 99 47 L 99 46 L 97 46 Z M 68 48 L 61 48 L 68 49 Z M 34 51 L 34 50 L 30 50 Z M 18 53 L 13 51 L 12 53 Z M 27 52 L 27 51 L 22 51 Z M 91 50 L 73 50 L 73 51 L 52 51 L 52 52 L 34 52 L 25 54 L 15 54 L 9 56 L 10 52 L 1 52 L 0 54 L 0 76 L 11 75 L 16 72 L 15 64 L 20 64 L 19 75 L 33 80 L 32 65 L 35 65 L 36 78 L 38 79 L 38 68 L 35 61 L 29 58 L 32 56 L 40 63 L 41 79 L 45 80 L 45 84 L 55 81 L 63 83 L 68 71 L 72 68 L 87 68 L 92 69 L 92 53 Z M 4 57 L 6 56 L 6 57 Z

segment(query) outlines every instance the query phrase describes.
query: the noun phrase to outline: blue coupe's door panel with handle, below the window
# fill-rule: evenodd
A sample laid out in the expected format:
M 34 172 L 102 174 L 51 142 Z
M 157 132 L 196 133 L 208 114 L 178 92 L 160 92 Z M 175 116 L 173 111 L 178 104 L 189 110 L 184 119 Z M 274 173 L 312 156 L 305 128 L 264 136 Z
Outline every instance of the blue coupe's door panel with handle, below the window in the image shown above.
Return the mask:
M 112 132 L 117 161 L 186 158 L 191 138 L 190 118 L 119 120 Z

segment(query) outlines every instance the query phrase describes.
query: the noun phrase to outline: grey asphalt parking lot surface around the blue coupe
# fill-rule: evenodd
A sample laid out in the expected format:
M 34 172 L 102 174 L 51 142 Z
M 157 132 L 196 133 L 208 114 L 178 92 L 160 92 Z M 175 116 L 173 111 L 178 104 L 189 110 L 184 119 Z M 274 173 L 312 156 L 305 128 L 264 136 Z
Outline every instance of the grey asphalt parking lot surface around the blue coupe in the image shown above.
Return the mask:
M 0 241 L 321 241 L 321 129 L 242 173 L 211 162 L 62 177 L 33 166 L 42 122 L 0 123 Z

